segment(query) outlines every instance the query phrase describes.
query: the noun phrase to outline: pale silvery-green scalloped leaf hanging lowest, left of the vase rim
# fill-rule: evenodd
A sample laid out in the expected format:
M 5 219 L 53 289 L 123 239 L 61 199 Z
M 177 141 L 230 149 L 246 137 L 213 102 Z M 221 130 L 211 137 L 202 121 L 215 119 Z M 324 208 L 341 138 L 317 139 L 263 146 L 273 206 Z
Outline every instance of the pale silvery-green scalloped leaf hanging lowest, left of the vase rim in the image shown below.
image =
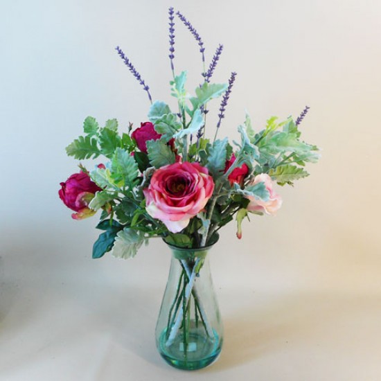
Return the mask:
M 144 233 L 134 229 L 125 228 L 116 235 L 111 254 L 116 258 L 133 258 L 141 245 L 146 242 Z

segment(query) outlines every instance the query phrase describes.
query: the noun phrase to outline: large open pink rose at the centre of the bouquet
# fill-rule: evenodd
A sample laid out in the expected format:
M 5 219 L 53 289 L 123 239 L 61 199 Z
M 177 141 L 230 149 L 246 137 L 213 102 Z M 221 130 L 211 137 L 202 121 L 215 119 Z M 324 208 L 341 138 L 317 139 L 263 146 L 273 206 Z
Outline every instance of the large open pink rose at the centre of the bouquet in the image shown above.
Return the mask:
M 148 214 L 177 233 L 204 209 L 214 189 L 213 178 L 199 163 L 174 163 L 159 168 L 143 190 Z

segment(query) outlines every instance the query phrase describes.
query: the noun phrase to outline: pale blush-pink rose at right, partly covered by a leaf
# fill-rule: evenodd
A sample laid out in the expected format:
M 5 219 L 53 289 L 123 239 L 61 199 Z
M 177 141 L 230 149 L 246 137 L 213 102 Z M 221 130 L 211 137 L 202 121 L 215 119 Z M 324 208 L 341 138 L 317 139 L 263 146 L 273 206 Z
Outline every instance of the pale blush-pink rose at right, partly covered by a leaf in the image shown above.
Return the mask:
M 269 191 L 269 200 L 262 201 L 258 200 L 255 197 L 247 196 L 250 200 L 249 205 L 247 206 L 248 211 L 257 211 L 257 212 L 265 212 L 267 214 L 275 215 L 276 211 L 281 208 L 282 199 L 281 196 L 275 193 L 273 186 L 274 181 L 272 181 L 271 177 L 266 173 L 261 173 L 254 177 L 254 181 L 251 181 L 251 185 L 258 184 L 260 182 L 265 183 L 266 189 Z

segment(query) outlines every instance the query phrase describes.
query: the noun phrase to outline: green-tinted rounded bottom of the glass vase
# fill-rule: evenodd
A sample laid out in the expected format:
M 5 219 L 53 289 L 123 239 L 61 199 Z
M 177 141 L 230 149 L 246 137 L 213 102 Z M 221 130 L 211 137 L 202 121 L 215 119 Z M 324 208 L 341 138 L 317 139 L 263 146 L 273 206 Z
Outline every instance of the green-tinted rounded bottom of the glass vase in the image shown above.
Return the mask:
M 158 344 L 159 353 L 168 364 L 186 371 L 195 371 L 210 365 L 220 355 L 222 347 L 222 342 L 216 333 L 213 338 L 190 333 L 185 346 L 184 338 L 178 335 L 168 346 L 166 330 L 161 334 Z

